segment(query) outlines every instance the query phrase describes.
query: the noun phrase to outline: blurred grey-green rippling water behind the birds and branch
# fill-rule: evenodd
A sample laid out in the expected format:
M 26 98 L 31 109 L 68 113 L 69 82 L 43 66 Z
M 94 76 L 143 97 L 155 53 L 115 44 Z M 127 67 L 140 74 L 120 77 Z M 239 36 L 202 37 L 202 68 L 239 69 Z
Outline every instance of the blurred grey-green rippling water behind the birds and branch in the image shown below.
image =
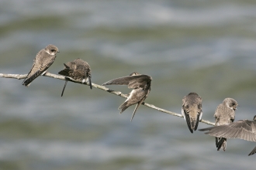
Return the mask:
M 236 121 L 256 110 L 256 2 L 250 0 L 0 1 L 0 73 L 29 72 L 48 44 L 48 70 L 85 59 L 92 82 L 133 71 L 153 77 L 146 102 L 181 114 L 182 97 L 202 97 L 204 120 L 233 97 Z M 0 78 L 0 169 L 252 169 L 256 143 L 189 132 L 183 118 L 40 76 L 30 87 Z M 109 86 L 129 93 L 127 87 Z M 199 128 L 209 127 L 199 124 Z

